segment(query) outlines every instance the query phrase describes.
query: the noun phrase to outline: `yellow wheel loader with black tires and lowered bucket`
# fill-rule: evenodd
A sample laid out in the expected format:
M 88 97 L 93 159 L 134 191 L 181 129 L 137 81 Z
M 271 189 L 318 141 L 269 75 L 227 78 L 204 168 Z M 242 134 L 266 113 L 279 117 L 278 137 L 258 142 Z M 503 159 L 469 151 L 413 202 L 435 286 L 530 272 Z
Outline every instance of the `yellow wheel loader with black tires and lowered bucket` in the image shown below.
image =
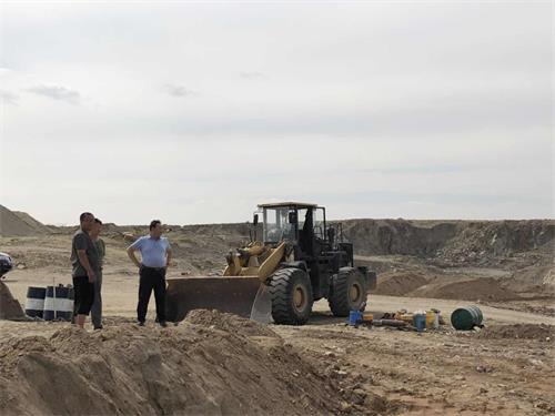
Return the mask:
M 260 322 L 303 325 L 320 298 L 327 298 L 335 316 L 364 310 L 376 273 L 354 266 L 353 245 L 343 242 L 341 224 L 327 226 L 323 206 L 261 204 L 253 225 L 251 242 L 225 256 L 223 276 L 168 278 L 168 321 L 208 308 Z

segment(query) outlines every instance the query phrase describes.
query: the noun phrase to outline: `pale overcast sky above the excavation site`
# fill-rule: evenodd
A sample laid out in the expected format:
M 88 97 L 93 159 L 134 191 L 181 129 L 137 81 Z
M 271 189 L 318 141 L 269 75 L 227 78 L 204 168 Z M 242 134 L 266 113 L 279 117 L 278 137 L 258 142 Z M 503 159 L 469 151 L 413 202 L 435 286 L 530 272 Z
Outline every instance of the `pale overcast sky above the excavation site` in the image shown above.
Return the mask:
M 48 224 L 554 217 L 553 2 L 0 3 L 0 203 Z

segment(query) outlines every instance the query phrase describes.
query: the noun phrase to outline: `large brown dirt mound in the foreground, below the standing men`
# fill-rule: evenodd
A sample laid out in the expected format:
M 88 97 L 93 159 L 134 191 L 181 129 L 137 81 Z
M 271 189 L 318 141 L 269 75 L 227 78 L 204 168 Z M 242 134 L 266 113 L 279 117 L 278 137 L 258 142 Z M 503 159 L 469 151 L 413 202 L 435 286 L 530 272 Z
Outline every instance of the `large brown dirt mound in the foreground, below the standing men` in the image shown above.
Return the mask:
M 50 338 L 3 339 L 0 413 L 341 413 L 340 389 L 320 368 L 281 337 L 245 333 L 265 332 L 240 318 L 196 312 L 167 329 L 67 327 Z

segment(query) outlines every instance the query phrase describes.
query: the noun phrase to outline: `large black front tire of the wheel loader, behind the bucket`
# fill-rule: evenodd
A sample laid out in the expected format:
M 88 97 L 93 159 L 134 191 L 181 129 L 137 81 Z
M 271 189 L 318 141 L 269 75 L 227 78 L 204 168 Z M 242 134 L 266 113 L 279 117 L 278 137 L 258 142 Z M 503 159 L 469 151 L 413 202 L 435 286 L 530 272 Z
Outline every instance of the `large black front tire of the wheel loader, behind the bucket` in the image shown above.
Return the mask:
M 276 324 L 304 325 L 311 315 L 312 285 L 301 268 L 280 268 L 270 277 L 272 317 Z

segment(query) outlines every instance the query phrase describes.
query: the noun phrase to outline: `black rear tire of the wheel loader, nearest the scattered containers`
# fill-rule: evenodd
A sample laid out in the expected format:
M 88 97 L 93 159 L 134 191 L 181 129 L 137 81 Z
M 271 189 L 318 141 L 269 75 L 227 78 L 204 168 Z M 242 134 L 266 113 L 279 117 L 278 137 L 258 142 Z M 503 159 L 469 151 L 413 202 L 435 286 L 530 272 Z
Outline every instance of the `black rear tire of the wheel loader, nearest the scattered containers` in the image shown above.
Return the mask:
M 334 316 L 349 316 L 350 311 L 364 311 L 366 307 L 366 281 L 356 268 L 340 268 L 333 275 L 330 288 L 327 303 Z

